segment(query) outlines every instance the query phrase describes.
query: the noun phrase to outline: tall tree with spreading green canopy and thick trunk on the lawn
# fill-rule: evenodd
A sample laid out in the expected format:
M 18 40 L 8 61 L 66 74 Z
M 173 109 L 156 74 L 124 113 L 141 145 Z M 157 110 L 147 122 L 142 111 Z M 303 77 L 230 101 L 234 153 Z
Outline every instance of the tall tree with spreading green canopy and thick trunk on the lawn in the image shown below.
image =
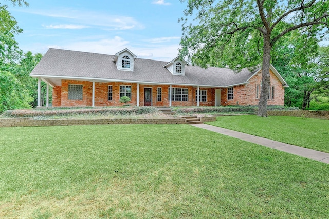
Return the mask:
M 186 0 L 181 0 L 185 2 Z M 320 36 L 329 23 L 327 0 L 189 0 L 181 18 L 180 55 L 201 67 L 262 65 L 259 116 L 267 117 L 271 50 L 295 30 Z

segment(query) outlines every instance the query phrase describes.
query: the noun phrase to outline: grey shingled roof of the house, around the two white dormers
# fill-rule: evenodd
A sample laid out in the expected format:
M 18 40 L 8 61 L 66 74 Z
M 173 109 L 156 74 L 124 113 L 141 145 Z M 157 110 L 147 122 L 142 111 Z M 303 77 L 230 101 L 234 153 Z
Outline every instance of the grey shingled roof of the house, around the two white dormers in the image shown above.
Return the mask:
M 242 69 L 234 73 L 227 68 L 207 69 L 186 65 L 185 76 L 171 74 L 168 62 L 137 58 L 134 71 L 120 71 L 112 62 L 113 55 L 49 49 L 30 76 L 43 78 L 76 78 L 99 81 L 131 81 L 150 84 L 173 84 L 229 87 L 246 83 L 255 73 Z

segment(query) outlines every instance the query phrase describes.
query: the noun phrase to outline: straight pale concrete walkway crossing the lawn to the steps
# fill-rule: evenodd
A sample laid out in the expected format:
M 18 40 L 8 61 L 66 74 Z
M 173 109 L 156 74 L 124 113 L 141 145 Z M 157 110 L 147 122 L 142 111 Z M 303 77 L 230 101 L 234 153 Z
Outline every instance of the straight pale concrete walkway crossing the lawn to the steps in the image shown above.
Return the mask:
M 211 125 L 207 125 L 207 124 L 192 124 L 191 126 L 207 129 L 209 131 L 214 131 L 214 132 L 228 135 L 231 137 L 239 138 L 239 139 L 242 139 L 247 142 L 256 143 L 256 144 L 263 145 L 263 146 L 266 146 L 269 148 L 274 148 L 274 149 L 277 149 L 280 151 L 285 151 L 287 153 L 296 154 L 299 156 L 303 156 L 303 157 L 306 157 L 309 159 L 313 159 L 316 161 L 320 161 L 320 162 L 329 164 L 329 153 L 315 151 L 315 150 L 299 147 L 296 145 L 289 145 L 286 143 L 269 140 L 264 137 L 257 137 L 254 135 L 245 134 L 242 132 L 237 132 L 237 131 L 224 129 L 224 128 L 220 128 L 220 127 L 216 127 L 216 126 L 211 126 Z

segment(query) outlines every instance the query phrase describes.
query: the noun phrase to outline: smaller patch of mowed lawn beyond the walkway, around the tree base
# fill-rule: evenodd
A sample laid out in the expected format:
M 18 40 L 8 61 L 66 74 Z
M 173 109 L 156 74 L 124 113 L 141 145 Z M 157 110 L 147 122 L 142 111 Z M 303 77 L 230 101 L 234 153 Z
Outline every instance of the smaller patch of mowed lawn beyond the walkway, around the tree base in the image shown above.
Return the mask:
M 290 116 L 218 116 L 208 124 L 329 153 L 329 120 Z

